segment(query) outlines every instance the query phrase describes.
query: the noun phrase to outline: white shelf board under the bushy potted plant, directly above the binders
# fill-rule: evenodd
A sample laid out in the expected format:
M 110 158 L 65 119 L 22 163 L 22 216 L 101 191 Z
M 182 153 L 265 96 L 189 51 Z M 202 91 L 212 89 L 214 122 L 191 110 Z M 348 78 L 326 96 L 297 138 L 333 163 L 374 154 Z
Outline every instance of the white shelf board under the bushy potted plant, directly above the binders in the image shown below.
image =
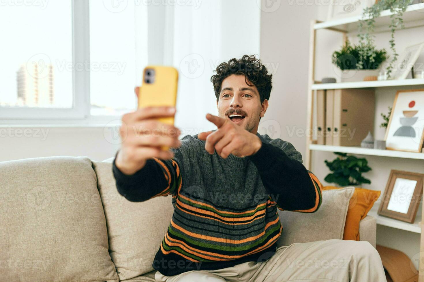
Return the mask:
M 312 90 L 347 89 L 347 88 L 375 88 L 406 85 L 424 85 L 424 79 L 391 79 L 374 81 L 336 82 L 312 84 Z

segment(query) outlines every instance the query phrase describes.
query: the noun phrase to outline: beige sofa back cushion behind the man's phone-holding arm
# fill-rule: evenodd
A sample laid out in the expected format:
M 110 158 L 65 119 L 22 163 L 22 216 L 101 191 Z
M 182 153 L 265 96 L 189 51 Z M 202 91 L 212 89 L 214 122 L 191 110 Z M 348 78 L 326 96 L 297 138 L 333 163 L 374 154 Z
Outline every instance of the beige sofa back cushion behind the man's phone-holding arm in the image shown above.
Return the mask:
M 156 197 L 140 203 L 126 200 L 117 192 L 112 162 L 113 159 L 93 161 L 93 167 L 106 215 L 109 252 L 120 280 L 125 280 L 153 271 L 153 259 L 174 208 L 172 196 Z

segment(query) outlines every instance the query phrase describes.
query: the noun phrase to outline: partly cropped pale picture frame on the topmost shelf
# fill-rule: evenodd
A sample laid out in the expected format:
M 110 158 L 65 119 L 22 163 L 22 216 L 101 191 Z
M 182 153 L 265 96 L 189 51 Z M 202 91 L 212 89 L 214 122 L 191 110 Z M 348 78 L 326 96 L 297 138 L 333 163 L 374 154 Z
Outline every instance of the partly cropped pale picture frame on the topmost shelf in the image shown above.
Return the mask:
M 331 0 L 327 20 L 361 16 L 364 8 L 371 7 L 376 0 Z

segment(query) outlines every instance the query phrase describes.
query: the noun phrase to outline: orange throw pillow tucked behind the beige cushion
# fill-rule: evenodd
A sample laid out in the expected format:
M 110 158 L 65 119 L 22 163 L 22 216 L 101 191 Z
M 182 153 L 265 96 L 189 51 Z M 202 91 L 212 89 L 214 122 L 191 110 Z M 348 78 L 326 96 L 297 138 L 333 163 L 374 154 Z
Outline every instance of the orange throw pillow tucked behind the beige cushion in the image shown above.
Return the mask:
M 339 189 L 342 187 L 324 186 L 323 190 Z M 367 216 L 381 191 L 356 188 L 349 202 L 343 240 L 359 241 L 359 222 Z

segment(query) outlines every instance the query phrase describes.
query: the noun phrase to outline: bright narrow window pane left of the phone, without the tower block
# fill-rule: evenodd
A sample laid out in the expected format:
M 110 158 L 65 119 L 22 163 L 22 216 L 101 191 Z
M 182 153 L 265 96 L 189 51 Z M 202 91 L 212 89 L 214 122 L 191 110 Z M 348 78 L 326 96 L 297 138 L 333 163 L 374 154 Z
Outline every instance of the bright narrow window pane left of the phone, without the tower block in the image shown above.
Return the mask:
M 90 1 L 91 115 L 122 115 L 134 110 L 136 46 L 134 1 L 114 12 L 103 1 Z

